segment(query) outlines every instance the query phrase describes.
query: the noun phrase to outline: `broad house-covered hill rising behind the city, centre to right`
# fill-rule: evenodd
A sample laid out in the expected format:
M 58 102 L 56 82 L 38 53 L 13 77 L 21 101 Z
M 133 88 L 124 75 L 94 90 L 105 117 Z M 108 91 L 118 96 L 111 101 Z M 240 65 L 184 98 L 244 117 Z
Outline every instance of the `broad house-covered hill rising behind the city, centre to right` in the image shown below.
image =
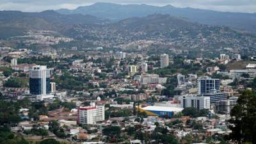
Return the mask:
M 154 41 L 183 49 L 233 52 L 255 51 L 256 36 L 223 26 L 209 26 L 170 15 L 154 14 L 134 17 L 104 26 L 78 25 L 66 35 L 104 45 L 123 47 L 134 41 Z

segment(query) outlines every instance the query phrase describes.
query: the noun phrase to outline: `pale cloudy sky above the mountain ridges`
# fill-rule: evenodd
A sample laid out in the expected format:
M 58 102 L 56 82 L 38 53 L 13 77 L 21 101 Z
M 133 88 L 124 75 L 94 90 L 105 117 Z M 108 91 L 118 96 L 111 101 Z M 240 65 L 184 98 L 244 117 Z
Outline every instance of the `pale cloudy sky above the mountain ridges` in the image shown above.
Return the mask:
M 85 6 L 97 2 L 152 4 L 157 6 L 172 4 L 178 7 L 227 12 L 256 12 L 256 0 L 0 0 L 0 10 L 41 12 L 43 10 L 58 10 L 60 8 L 74 9 L 77 6 Z

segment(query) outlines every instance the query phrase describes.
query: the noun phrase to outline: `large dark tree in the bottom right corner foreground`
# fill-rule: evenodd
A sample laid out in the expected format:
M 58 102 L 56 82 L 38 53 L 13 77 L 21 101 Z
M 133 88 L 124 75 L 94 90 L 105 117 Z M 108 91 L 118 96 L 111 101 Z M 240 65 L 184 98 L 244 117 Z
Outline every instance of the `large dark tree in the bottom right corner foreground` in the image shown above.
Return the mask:
M 229 138 L 236 143 L 256 143 L 256 93 L 246 90 L 230 112 Z

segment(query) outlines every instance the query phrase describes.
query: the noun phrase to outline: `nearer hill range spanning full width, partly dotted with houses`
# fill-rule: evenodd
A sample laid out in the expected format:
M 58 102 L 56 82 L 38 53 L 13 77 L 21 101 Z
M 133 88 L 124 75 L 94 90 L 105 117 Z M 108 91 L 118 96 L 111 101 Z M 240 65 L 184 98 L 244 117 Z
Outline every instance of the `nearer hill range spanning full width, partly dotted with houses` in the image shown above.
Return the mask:
M 211 26 L 169 14 L 151 14 L 118 21 L 92 15 L 63 15 L 44 12 L 0 12 L 0 38 L 19 36 L 28 30 L 51 30 L 77 42 L 102 47 L 129 48 L 148 42 L 175 49 L 216 51 L 224 47 L 234 52 L 255 51 L 256 35 L 227 26 Z M 167 46 L 166 46 L 167 45 Z M 128 46 L 128 47 L 127 47 Z M 168 51 L 168 49 L 166 50 Z

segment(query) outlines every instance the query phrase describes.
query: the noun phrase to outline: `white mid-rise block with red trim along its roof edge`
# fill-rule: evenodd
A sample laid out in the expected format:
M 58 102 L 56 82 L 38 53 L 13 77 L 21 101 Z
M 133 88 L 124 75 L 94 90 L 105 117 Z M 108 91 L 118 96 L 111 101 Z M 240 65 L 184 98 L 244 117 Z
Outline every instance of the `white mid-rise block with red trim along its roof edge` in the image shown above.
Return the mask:
M 90 106 L 78 108 L 78 124 L 96 124 L 102 120 L 105 120 L 104 105 L 97 106 L 95 103 L 91 103 Z

